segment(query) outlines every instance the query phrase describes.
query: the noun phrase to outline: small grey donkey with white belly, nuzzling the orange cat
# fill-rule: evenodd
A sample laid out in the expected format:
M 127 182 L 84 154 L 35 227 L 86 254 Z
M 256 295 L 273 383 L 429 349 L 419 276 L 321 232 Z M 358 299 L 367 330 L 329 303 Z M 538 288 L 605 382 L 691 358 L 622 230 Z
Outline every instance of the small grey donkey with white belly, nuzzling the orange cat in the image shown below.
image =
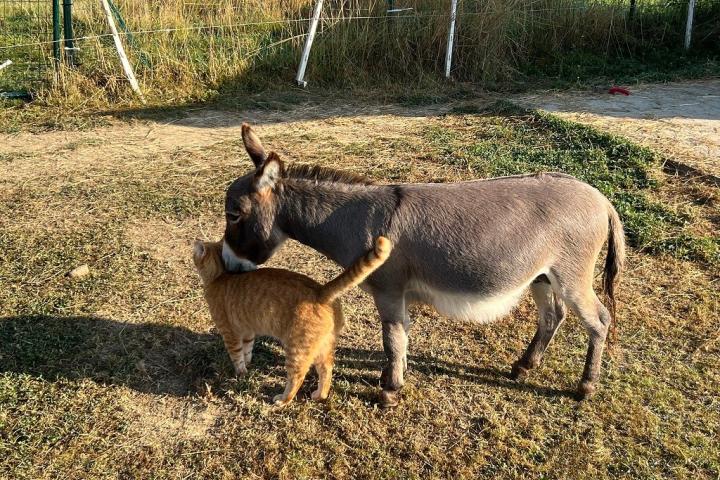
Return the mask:
M 384 405 L 396 405 L 403 386 L 409 304 L 490 322 L 506 315 L 528 287 L 538 327 L 512 377 L 524 377 L 539 364 L 567 304 L 590 336 L 578 391 L 580 398 L 592 395 L 612 322 L 593 291 L 595 262 L 607 239 L 603 287 L 614 314 L 625 253 L 618 214 L 595 188 L 559 173 L 380 185 L 328 168 L 284 166 L 276 153 L 266 153 L 249 125 L 242 135 L 255 170 L 227 190 L 223 259 L 229 270 L 267 261 L 287 238 L 342 267 L 379 235 L 395 245 L 363 285 L 382 321 Z

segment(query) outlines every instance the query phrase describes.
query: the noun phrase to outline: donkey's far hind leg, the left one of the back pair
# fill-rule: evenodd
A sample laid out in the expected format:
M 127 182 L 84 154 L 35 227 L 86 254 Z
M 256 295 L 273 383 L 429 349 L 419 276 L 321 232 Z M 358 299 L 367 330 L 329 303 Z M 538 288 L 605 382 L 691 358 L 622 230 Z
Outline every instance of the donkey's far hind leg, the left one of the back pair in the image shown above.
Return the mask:
M 544 275 L 530 285 L 530 291 L 538 307 L 538 327 L 525 353 L 513 364 L 510 376 L 513 380 L 524 379 L 529 370 L 537 367 L 555 332 L 565 320 L 565 307 L 553 292 Z

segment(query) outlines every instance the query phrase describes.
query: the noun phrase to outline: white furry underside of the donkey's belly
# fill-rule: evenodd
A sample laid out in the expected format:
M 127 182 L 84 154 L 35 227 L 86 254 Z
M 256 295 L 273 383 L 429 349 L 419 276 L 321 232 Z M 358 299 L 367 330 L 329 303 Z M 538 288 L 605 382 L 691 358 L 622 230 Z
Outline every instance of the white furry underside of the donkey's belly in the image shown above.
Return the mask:
M 458 320 L 490 323 L 510 313 L 520 301 L 530 282 L 532 279 L 516 288 L 490 295 L 444 292 L 429 285 L 414 282 L 407 293 L 409 301 L 432 305 L 442 315 Z

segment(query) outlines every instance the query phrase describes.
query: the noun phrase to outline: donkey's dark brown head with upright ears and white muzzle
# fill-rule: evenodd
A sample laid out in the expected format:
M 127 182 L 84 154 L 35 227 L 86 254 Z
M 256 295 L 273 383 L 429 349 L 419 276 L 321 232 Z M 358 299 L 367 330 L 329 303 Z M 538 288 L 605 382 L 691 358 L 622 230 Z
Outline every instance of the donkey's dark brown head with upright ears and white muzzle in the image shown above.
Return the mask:
M 241 271 L 247 262 L 266 262 L 285 240 L 276 224 L 283 164 L 275 152 L 265 153 L 260 139 L 243 124 L 245 149 L 255 171 L 235 180 L 225 194 L 223 260 L 229 271 Z

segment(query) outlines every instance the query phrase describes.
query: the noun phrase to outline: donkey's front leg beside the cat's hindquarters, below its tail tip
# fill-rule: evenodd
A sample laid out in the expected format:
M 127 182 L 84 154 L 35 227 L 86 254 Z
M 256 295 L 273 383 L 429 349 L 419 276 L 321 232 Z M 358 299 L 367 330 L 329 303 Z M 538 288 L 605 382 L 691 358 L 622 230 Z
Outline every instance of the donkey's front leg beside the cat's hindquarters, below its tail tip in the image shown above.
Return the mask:
M 407 365 L 405 299 L 402 295 L 375 296 L 375 305 L 382 321 L 383 349 L 388 361 L 380 376 L 383 389 L 380 399 L 384 407 L 394 407 L 400 400 L 399 391 L 405 383 L 403 373 Z

